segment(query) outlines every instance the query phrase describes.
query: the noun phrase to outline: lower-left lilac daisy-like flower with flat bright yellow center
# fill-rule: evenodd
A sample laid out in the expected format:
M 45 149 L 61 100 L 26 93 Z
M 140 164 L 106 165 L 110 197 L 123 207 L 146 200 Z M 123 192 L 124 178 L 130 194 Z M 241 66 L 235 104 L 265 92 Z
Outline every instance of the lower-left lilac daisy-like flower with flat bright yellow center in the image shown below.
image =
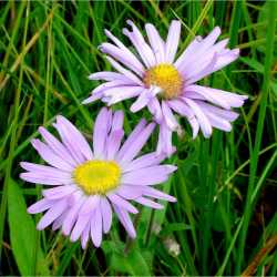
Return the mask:
M 43 189 L 43 198 L 28 208 L 31 214 L 47 211 L 38 229 L 52 224 L 72 242 L 81 238 L 83 248 L 90 238 L 99 247 L 103 233 L 111 228 L 113 212 L 127 234 L 135 237 L 130 213 L 136 214 L 137 208 L 131 201 L 152 208 L 163 208 L 155 199 L 176 201 L 153 187 L 167 181 L 176 166 L 160 165 L 165 156 L 156 153 L 136 157 L 154 123 L 142 120 L 122 144 L 123 112 L 112 113 L 104 107 L 95 121 L 93 151 L 63 116 L 57 116 L 53 125 L 61 141 L 40 127 L 44 142 L 31 142 L 49 165 L 21 162 L 27 171 L 20 174 L 22 179 L 51 187 Z

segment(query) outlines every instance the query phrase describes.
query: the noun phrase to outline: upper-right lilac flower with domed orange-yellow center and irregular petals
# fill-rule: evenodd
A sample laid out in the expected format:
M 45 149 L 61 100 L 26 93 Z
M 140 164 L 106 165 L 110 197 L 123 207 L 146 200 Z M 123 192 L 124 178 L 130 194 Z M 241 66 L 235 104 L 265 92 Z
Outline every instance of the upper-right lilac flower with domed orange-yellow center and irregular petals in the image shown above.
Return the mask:
M 220 29 L 216 27 L 206 38 L 196 37 L 176 57 L 181 22 L 173 20 L 164 41 L 153 24 L 146 23 L 147 42 L 132 21 L 131 30 L 123 29 L 137 52 L 131 52 L 117 38 L 105 30 L 113 43 L 102 43 L 100 50 L 117 72 L 102 71 L 91 80 L 103 80 L 83 103 L 101 99 L 107 105 L 136 98 L 131 106 L 137 112 L 147 106 L 160 124 L 157 152 L 172 153 L 172 132 L 181 131 L 174 113 L 185 116 L 195 138 L 198 131 L 209 137 L 213 127 L 229 132 L 230 122 L 238 116 L 232 107 L 239 107 L 245 95 L 195 84 L 204 76 L 220 70 L 238 58 L 239 50 L 226 48 L 228 39 L 216 42 Z

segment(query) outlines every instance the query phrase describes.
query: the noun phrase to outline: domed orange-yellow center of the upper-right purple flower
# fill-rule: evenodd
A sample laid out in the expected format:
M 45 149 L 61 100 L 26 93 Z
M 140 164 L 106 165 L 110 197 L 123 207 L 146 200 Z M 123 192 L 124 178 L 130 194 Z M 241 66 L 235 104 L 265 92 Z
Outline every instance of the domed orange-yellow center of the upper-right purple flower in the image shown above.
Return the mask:
M 174 99 L 182 92 L 183 78 L 174 65 L 161 63 L 146 71 L 144 83 L 147 86 L 156 85 L 161 88 L 164 99 Z

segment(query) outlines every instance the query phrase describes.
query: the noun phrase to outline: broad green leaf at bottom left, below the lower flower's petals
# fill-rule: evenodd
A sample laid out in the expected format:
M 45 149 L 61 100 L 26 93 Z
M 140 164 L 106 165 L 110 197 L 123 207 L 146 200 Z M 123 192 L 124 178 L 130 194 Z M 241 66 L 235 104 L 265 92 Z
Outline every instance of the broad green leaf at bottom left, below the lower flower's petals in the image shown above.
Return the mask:
M 23 276 L 49 275 L 42 249 L 35 240 L 34 223 L 27 213 L 24 197 L 19 185 L 12 179 L 8 187 L 8 211 L 11 247 L 20 274 Z M 37 257 L 34 257 L 35 248 Z

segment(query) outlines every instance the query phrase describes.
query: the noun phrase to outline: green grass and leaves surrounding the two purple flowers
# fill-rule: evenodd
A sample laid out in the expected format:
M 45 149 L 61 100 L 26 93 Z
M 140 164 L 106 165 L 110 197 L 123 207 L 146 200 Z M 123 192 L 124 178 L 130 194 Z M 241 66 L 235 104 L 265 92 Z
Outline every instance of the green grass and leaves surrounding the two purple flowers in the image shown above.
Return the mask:
M 1 1 L 0 2 L 0 275 L 277 275 L 276 215 L 276 1 Z M 63 114 L 85 134 L 102 103 L 83 106 L 98 85 L 91 72 L 109 70 L 98 50 L 104 28 L 121 33 L 132 19 L 166 35 L 183 22 L 179 52 L 213 27 L 242 57 L 202 81 L 249 95 L 232 133 L 192 140 L 189 126 L 174 137 L 177 173 L 163 186 L 178 199 L 164 211 L 142 209 L 131 242 L 119 223 L 101 248 L 85 250 L 51 228 L 35 230 L 41 215 L 25 207 L 41 186 L 19 179 L 20 161 L 42 162 L 30 145 L 38 127 L 52 130 Z M 129 133 L 146 112 L 125 112 Z M 156 134 L 144 151 L 155 148 Z M 158 233 L 157 230 L 161 229 Z M 175 255 L 168 248 L 179 246 Z

